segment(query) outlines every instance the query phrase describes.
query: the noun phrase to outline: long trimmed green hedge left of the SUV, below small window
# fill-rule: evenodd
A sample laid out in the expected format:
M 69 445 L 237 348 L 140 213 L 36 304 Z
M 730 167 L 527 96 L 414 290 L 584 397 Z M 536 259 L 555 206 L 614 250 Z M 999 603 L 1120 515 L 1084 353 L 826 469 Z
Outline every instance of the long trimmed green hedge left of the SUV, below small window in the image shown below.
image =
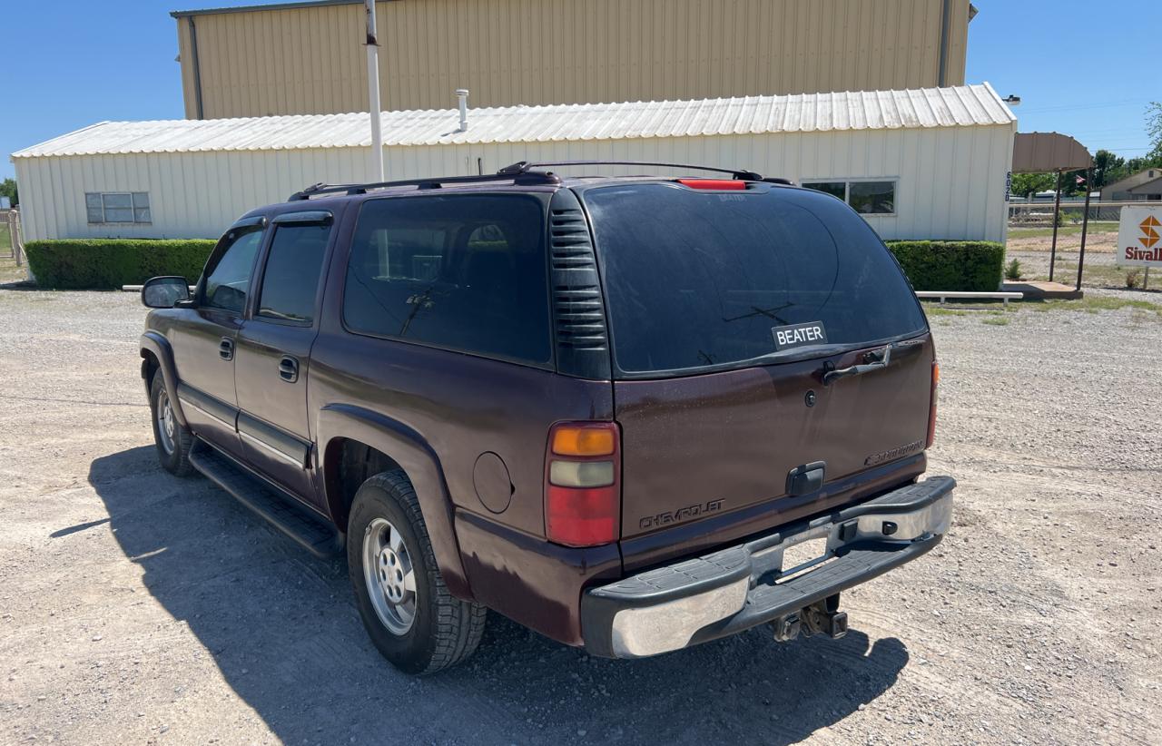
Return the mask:
M 117 290 L 163 274 L 198 280 L 215 242 L 208 238 L 69 238 L 30 241 L 28 267 L 44 288 Z

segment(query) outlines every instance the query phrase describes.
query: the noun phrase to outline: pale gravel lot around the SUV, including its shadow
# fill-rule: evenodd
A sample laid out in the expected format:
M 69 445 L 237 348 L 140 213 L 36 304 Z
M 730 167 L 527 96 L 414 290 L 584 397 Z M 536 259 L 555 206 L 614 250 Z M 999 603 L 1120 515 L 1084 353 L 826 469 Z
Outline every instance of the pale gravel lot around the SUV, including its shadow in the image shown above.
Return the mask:
M 1157 314 L 933 317 L 955 522 L 845 639 L 615 662 L 494 615 L 426 680 L 340 562 L 158 468 L 143 317 L 0 290 L 0 743 L 1159 743 Z

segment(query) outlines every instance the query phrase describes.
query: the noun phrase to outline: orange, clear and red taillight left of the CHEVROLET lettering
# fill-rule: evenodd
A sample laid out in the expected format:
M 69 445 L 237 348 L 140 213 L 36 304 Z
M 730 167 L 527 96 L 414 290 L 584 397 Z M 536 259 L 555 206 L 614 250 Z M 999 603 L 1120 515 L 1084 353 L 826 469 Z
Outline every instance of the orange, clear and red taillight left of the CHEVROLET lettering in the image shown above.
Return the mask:
M 567 546 L 616 541 L 621 532 L 621 436 L 612 422 L 561 422 L 548 431 L 545 535 Z

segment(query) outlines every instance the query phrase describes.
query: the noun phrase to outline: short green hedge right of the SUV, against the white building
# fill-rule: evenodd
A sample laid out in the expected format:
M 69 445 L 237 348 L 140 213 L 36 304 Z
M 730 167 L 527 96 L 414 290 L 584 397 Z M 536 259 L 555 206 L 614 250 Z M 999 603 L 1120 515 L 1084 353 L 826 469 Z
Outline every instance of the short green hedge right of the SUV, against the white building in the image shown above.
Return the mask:
M 889 241 L 917 290 L 991 293 L 1000 287 L 1005 248 L 990 241 Z

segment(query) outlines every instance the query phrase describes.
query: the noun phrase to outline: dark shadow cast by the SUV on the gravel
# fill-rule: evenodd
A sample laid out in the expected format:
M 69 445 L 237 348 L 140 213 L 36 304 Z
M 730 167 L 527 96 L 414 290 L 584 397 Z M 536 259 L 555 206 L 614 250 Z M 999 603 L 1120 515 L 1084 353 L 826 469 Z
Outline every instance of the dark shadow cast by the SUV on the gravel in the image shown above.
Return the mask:
M 858 630 L 777 645 L 760 627 L 609 661 L 492 615 L 475 657 L 415 680 L 367 641 L 342 561 L 315 560 L 206 480 L 163 472 L 152 447 L 99 458 L 88 479 L 149 593 L 286 743 L 794 743 L 878 697 L 909 658 Z M 195 682 L 189 706 L 203 694 Z

